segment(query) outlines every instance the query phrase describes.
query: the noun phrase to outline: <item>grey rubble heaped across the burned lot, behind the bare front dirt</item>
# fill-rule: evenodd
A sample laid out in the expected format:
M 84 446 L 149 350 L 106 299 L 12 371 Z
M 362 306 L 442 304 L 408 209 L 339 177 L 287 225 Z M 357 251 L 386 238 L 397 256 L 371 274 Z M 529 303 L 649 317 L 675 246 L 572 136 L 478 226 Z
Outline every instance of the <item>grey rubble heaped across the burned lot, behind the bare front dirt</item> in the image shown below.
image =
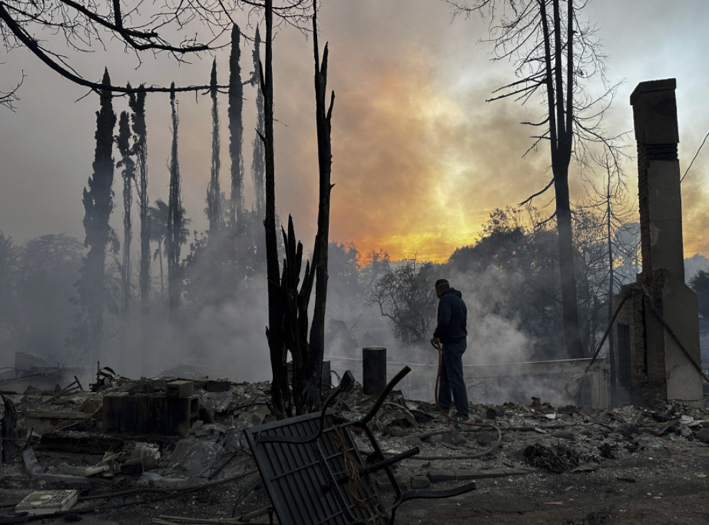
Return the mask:
M 176 514 L 185 519 L 236 519 L 255 512 L 243 518 L 248 521 L 233 522 L 267 523 L 269 514 L 261 511 L 269 507 L 269 500 L 244 430 L 272 421 L 269 383 L 201 378 L 190 380 L 187 388 L 185 381 L 112 375 L 94 385 L 93 392 L 28 387 L 19 394 L 4 394 L 5 407 L 16 410 L 18 437 L 4 438 L 0 521 L 16 516 L 15 505 L 37 490 L 78 490 L 78 501 L 67 512 L 95 514 L 99 509 L 114 520 L 129 513 L 136 525 L 179 523 Z M 178 394 L 184 399 L 199 400 L 196 414 L 190 409 L 185 416 L 187 431 L 104 431 L 106 397 L 165 397 L 170 385 L 183 389 Z M 374 399 L 357 385 L 342 394 L 334 408 L 348 421 L 362 419 Z M 404 399 L 394 391 L 369 426 L 387 455 L 420 448 L 418 455 L 396 465 L 399 485 L 445 488 L 462 480 L 480 480 L 476 501 L 493 501 L 492 494 L 510 489 L 515 497 L 530 501 L 564 496 L 571 502 L 576 491 L 596 486 L 598 490 L 605 486 L 606 496 L 609 486 L 620 494 L 642 482 L 647 469 L 665 480 L 676 475 L 704 482 L 709 474 L 709 412 L 704 408 L 592 410 L 552 407 L 535 398 L 528 405 L 474 404 L 470 415 L 469 424 L 453 423 L 435 404 Z M 502 433 L 499 443 L 495 426 Z M 355 443 L 367 455 L 371 452 L 367 439 L 356 429 L 352 427 Z M 384 478 L 377 486 L 391 490 Z M 120 510 L 106 497 L 119 493 Z M 460 505 L 466 497 L 452 499 Z M 425 508 L 411 512 L 416 521 L 426 522 Z M 165 516 L 172 516 L 172 521 Z M 445 523 L 440 516 L 430 518 Z

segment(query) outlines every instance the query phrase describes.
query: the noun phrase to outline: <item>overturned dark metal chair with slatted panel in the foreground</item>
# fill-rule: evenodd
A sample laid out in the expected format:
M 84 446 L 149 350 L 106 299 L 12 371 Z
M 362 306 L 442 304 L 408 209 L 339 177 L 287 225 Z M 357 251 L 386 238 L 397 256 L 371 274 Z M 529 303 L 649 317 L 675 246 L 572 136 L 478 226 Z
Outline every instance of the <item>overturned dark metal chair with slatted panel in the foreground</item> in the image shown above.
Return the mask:
M 322 411 L 245 430 L 280 524 L 393 524 L 397 507 L 408 499 L 450 497 L 474 490 L 471 482 L 450 490 L 402 492 L 396 482 L 391 466 L 418 454 L 419 448 L 385 458 L 367 424 L 409 371 L 407 366 L 398 372 L 363 419 L 348 421 L 329 408 L 354 385 L 347 371 Z M 362 429 L 369 438 L 373 452 L 367 458 L 354 443 L 350 426 Z M 393 501 L 386 504 L 374 479 L 380 471 L 393 487 Z

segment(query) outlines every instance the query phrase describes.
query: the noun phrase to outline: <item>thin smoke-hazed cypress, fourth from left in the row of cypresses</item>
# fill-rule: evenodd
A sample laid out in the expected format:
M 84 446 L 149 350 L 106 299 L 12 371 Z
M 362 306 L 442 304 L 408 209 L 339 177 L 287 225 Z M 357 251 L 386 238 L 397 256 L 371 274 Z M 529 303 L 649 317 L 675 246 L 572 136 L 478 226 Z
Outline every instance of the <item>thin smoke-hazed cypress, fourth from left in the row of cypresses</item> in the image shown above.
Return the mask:
M 172 84 L 174 85 L 174 83 Z M 180 197 L 179 160 L 177 158 L 177 101 L 174 92 L 170 92 L 172 110 L 172 146 L 170 148 L 170 184 L 167 201 L 167 304 L 171 323 L 177 322 L 179 312 L 179 294 L 181 274 L 179 253 L 182 247 L 184 228 L 184 208 Z

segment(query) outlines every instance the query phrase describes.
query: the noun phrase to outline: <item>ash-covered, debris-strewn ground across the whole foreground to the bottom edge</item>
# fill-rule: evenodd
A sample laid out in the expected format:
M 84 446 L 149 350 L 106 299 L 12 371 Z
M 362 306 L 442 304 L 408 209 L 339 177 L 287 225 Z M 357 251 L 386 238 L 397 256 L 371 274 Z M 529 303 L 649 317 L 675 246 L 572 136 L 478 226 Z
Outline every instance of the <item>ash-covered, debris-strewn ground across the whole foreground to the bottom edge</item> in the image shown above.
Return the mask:
M 268 383 L 194 380 L 200 417 L 185 436 L 102 431 L 106 393 L 160 394 L 170 380 L 114 378 L 99 392 L 57 397 L 30 388 L 8 395 L 17 410 L 16 444 L 22 451 L 0 467 L 0 523 L 28 522 L 21 520 L 31 516 L 16 514 L 15 505 L 31 492 L 67 489 L 78 490 L 77 504 L 44 523 L 278 523 L 267 512 L 269 494 L 244 434 L 272 419 Z M 351 421 L 375 401 L 357 385 L 335 408 Z M 26 443 L 31 416 L 52 411 L 57 429 Z M 86 416 L 62 420 L 82 412 Z M 386 453 L 420 448 L 396 465 L 403 490 L 476 482 L 476 490 L 456 497 L 404 502 L 397 524 L 709 522 L 705 408 L 591 410 L 530 399 L 529 405 L 473 404 L 471 423 L 455 424 L 435 405 L 404 399 L 396 390 L 389 395 L 369 426 Z M 476 426 L 481 424 L 498 426 L 501 439 L 496 430 Z M 369 441 L 352 435 L 367 453 Z M 7 451 L 9 442 L 4 444 Z M 380 477 L 374 483 L 381 502 L 388 503 L 394 494 L 389 484 Z

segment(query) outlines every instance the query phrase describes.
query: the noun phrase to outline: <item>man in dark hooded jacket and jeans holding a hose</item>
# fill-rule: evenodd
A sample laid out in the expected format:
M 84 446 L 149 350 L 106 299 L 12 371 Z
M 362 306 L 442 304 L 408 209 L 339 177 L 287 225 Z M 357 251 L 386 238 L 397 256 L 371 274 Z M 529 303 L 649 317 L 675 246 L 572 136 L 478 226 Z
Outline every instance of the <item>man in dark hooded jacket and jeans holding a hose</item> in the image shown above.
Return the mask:
M 457 289 L 451 288 L 448 281 L 436 281 L 438 296 L 438 323 L 431 343 L 443 347 L 441 373 L 438 385 L 438 404 L 448 413 L 451 401 L 455 402 L 455 419 L 468 421 L 468 392 L 463 377 L 463 353 L 467 348 L 468 331 L 466 329 L 468 309 Z M 452 400 L 451 400 L 452 394 Z

